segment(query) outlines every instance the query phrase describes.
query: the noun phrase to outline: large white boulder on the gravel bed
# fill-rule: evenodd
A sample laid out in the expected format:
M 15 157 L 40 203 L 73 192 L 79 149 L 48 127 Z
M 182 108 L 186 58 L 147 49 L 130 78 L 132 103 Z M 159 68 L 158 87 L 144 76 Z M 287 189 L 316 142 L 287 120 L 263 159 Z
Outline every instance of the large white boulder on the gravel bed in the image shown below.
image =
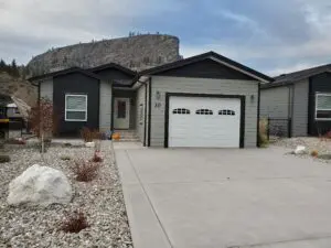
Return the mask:
M 10 182 L 7 202 L 45 207 L 67 204 L 71 200 L 72 186 L 62 171 L 34 164 Z

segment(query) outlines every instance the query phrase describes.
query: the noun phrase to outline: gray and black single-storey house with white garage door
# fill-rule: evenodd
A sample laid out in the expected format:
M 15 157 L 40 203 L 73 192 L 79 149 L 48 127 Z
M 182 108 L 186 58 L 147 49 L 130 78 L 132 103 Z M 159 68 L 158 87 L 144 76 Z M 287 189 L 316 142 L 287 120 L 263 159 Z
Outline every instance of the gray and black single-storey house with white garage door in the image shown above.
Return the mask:
M 256 147 L 259 85 L 273 79 L 214 52 L 141 72 L 117 64 L 30 78 L 60 134 L 135 130 L 147 147 Z

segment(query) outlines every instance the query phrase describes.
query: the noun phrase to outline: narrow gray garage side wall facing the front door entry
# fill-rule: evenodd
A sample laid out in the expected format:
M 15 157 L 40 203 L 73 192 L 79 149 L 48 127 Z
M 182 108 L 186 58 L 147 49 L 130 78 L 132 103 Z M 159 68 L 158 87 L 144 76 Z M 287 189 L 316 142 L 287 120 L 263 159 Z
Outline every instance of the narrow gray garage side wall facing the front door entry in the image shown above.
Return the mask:
M 140 142 L 143 142 L 143 133 L 145 133 L 145 103 L 146 95 L 146 85 L 141 85 L 137 89 L 137 98 L 136 98 L 136 131 Z

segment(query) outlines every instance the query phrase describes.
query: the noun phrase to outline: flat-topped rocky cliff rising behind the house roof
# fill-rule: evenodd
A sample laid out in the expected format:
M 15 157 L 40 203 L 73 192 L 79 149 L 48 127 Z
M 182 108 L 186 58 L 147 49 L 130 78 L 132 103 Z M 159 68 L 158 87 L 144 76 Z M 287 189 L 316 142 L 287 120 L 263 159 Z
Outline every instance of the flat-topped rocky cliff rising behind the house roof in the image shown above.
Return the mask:
M 142 34 L 50 50 L 28 64 L 32 75 L 72 66 L 89 68 L 118 63 L 135 71 L 180 60 L 179 39 L 163 34 Z

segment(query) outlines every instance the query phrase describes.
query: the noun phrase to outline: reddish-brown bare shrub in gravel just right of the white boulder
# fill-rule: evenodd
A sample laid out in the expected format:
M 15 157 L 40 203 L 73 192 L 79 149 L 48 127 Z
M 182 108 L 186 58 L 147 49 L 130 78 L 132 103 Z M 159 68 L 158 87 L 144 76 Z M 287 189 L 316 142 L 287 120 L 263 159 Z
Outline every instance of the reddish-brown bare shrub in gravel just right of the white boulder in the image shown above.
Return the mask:
M 73 172 L 78 182 L 90 182 L 97 176 L 99 166 L 98 163 L 79 160 L 74 162 Z

